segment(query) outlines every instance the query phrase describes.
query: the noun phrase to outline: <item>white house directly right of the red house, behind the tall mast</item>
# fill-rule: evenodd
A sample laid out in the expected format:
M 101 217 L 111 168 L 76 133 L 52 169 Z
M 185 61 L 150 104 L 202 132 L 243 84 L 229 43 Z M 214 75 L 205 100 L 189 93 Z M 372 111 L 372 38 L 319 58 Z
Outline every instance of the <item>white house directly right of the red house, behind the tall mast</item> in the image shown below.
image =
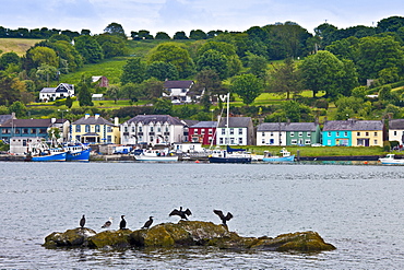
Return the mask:
M 253 145 L 254 134 L 251 117 L 223 117 L 216 129 L 217 145 Z

